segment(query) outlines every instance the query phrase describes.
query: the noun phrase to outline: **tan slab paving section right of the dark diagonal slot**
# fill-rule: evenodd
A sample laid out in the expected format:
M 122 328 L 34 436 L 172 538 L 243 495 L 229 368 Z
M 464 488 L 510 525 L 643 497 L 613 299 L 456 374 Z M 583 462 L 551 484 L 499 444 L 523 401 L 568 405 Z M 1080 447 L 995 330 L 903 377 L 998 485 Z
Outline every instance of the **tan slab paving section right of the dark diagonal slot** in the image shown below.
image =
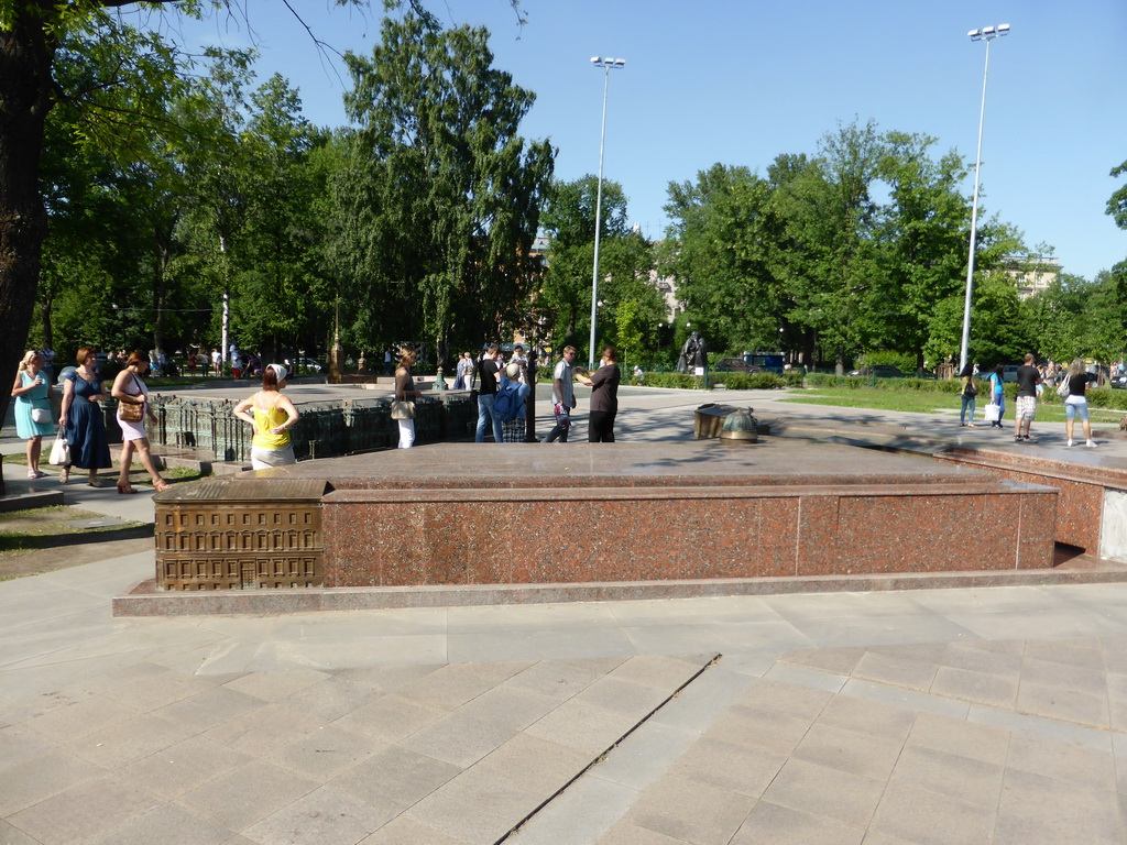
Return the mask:
M 996 653 L 1021 655 L 1022 670 L 1037 676 L 1044 653 L 1086 655 L 1094 664 L 1097 656 L 1121 653 L 1124 641 L 1115 637 L 993 644 Z M 869 650 L 782 655 L 783 662 L 829 668 L 806 669 L 807 675 L 791 675 L 787 682 L 752 681 L 722 717 L 680 751 L 666 774 L 638 784 L 635 800 L 618 799 L 618 806 L 627 809 L 611 819 L 604 810 L 601 833 L 588 829 L 588 840 L 600 845 L 1080 845 L 1127 838 L 1118 775 L 1122 764 L 1117 759 L 1117 750 L 1127 747 L 1127 735 L 1109 733 L 1106 726 L 1095 731 L 1093 724 L 1093 737 L 1102 735 L 1104 741 L 1076 741 L 1083 738 L 1070 736 L 1068 724 L 1082 720 L 1081 715 L 1022 713 L 1019 701 L 1011 703 L 1014 719 L 1005 724 L 976 723 L 980 713 L 968 708 L 952 718 L 913 706 L 924 696 L 951 693 L 933 686 L 921 694 L 914 688 L 929 670 L 907 667 L 912 650 L 914 659 L 931 665 L 934 673 L 937 655 L 958 660 L 967 646 L 906 647 L 898 656 L 902 677 L 864 682 L 891 688 L 903 685 L 913 697 L 899 703 L 881 703 L 872 695 L 855 697 L 845 677 L 833 684 L 810 677 L 843 666 L 863 674 L 866 658 L 873 653 Z M 1067 692 L 1067 673 L 1058 674 L 1051 684 Z M 825 692 L 833 686 L 838 692 Z M 1058 728 L 1063 733 L 1054 736 Z M 655 724 L 644 726 L 642 736 L 632 740 L 656 745 L 660 737 L 655 730 Z M 588 804 L 600 799 L 601 770 L 614 765 L 612 757 L 585 775 L 585 792 L 576 790 L 570 816 L 583 818 L 594 809 Z M 559 829 L 560 824 L 550 813 L 533 819 L 526 828 L 527 842 L 550 840 L 548 831 Z M 517 843 L 524 842 L 524 833 Z

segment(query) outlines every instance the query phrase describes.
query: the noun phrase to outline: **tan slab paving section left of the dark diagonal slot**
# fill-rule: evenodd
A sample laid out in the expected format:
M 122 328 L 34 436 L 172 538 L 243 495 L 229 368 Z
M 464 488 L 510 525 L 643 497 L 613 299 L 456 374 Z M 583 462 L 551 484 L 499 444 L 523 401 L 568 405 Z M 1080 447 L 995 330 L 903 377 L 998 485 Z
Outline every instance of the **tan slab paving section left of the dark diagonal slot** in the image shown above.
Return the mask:
M 710 659 L 151 667 L 0 729 L 0 811 L 12 842 L 494 842 Z M 577 712 L 595 745 L 558 741 Z

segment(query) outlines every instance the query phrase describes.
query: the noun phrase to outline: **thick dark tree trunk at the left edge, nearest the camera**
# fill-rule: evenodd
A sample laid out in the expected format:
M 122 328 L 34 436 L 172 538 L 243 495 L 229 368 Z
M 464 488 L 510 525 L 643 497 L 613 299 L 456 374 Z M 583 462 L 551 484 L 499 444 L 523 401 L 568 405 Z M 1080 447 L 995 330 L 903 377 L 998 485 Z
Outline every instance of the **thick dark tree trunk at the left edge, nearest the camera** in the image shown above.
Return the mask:
M 11 28 L 0 28 L 0 363 L 6 368 L 20 359 L 27 341 L 47 235 L 38 177 L 55 51 L 39 3 L 10 5 L 9 14 Z M 9 399 L 0 391 L 0 419 Z

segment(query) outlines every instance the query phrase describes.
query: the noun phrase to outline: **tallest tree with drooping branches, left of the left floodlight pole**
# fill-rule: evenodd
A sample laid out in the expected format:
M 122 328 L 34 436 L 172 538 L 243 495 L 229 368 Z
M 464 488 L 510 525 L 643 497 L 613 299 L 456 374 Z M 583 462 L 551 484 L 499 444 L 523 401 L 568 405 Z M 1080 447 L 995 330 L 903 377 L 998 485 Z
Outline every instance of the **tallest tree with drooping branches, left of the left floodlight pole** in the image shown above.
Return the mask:
M 554 153 L 526 144 L 534 96 L 492 66 L 488 33 L 385 20 L 370 57 L 347 54 L 354 89 L 334 255 L 354 331 L 477 346 L 520 319 Z M 394 308 L 391 306 L 394 303 Z

